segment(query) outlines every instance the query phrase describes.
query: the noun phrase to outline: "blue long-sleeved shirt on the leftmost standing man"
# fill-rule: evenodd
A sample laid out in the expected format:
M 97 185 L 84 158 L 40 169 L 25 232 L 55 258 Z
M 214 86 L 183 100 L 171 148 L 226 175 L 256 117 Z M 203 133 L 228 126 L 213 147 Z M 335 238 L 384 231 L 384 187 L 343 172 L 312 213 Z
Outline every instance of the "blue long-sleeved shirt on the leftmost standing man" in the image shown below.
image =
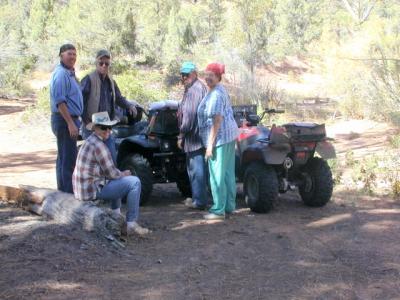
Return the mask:
M 75 77 L 75 72 L 58 64 L 50 80 L 50 108 L 57 113 L 58 105 L 65 102 L 71 116 L 83 113 L 83 98 L 81 88 Z

